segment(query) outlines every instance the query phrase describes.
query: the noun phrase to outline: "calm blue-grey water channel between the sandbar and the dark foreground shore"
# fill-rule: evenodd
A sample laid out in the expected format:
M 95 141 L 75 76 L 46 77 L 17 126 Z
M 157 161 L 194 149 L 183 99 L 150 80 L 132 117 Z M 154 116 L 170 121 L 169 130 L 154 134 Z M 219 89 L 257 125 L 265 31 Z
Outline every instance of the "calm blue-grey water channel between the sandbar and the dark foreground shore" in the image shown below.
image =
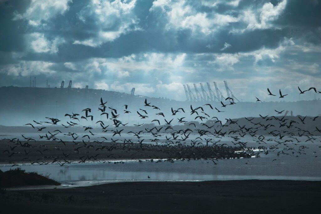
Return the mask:
M 169 162 L 134 162 L 125 164 L 85 163 L 53 165 L 22 165 L 28 172 L 36 171 L 57 181 L 204 181 L 239 179 L 292 179 L 321 180 L 321 160 L 312 156 L 294 158 L 274 156 L 250 159 L 219 160 L 214 165 L 210 160 Z M 11 166 L 2 166 L 9 170 Z M 148 178 L 147 176 L 150 176 Z

